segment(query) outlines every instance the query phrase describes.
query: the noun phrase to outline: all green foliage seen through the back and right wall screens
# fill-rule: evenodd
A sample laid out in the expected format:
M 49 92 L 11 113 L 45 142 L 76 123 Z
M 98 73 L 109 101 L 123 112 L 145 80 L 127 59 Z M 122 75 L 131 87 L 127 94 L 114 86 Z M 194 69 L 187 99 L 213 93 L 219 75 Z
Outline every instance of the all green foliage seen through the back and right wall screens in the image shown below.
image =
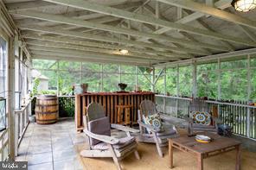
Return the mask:
M 119 66 L 114 64 L 94 64 L 54 60 L 33 60 L 33 66 L 49 78 L 49 91 L 59 91 L 62 95 L 71 93 L 74 84 L 87 83 L 88 91 L 119 91 L 118 83 L 127 84 L 127 91 L 133 91 L 136 85 L 136 66 Z M 247 60 L 221 60 L 221 99 L 247 99 Z M 251 59 L 251 86 L 250 99 L 256 100 L 256 60 Z M 59 67 L 59 72 L 57 68 Z M 101 73 L 101 69 L 103 69 Z M 138 67 L 138 85 L 143 91 L 150 91 L 152 79 L 151 68 Z M 179 78 L 177 72 L 179 71 Z M 144 75 L 142 74 L 144 73 Z M 161 69 L 156 69 L 156 78 Z M 177 80 L 179 80 L 179 96 L 191 97 L 192 93 L 192 66 L 180 66 L 179 69 L 167 68 L 166 75 L 159 77 L 156 91 L 164 93 L 164 76 L 166 76 L 166 92 L 171 96 L 177 94 Z M 217 62 L 197 65 L 197 96 L 216 99 L 218 97 L 218 64 Z M 59 73 L 59 79 L 58 78 Z M 103 86 L 102 86 L 103 83 Z M 35 89 L 34 89 L 35 90 Z M 34 92 L 34 91 L 33 91 Z

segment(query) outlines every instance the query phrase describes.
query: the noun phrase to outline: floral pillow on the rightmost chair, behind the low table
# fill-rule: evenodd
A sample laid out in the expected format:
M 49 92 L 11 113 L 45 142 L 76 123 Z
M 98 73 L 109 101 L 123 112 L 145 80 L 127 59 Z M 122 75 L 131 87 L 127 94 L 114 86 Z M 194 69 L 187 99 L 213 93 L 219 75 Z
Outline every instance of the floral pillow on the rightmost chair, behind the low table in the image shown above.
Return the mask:
M 210 125 L 211 123 L 211 116 L 208 112 L 191 111 L 191 115 L 195 124 Z

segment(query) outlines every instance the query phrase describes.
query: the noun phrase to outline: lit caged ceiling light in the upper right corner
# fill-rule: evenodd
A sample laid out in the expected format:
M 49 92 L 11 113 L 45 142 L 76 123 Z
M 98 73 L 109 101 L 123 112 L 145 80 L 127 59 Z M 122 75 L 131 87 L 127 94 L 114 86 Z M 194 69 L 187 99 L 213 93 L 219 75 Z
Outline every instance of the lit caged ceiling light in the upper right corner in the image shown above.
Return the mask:
M 240 12 L 248 12 L 256 7 L 256 0 L 233 0 L 234 9 Z

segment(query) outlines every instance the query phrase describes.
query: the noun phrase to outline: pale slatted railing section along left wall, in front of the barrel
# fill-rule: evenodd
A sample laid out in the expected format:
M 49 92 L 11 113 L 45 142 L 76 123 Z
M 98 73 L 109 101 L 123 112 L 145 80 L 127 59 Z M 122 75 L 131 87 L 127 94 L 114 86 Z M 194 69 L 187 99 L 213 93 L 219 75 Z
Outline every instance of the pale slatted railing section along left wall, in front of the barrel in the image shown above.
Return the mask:
M 29 115 L 31 114 L 31 98 L 21 110 L 15 111 L 15 146 L 16 146 L 16 155 L 17 148 L 22 142 L 22 137 L 26 132 L 26 129 L 29 125 Z

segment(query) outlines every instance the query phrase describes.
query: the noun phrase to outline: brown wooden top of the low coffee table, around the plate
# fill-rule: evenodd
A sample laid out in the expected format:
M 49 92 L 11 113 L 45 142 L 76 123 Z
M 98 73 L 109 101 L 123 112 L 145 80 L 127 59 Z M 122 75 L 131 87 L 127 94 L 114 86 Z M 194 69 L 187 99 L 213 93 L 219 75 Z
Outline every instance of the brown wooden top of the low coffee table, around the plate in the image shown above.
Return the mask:
M 232 139 L 223 137 L 221 135 L 213 133 L 199 133 L 198 135 L 208 135 L 213 139 L 212 142 L 202 143 L 196 142 L 195 136 L 181 135 L 177 138 L 169 139 L 170 142 L 173 142 L 174 145 L 186 148 L 191 152 L 195 153 L 210 153 L 219 149 L 230 148 L 237 145 L 240 145 L 240 142 Z

